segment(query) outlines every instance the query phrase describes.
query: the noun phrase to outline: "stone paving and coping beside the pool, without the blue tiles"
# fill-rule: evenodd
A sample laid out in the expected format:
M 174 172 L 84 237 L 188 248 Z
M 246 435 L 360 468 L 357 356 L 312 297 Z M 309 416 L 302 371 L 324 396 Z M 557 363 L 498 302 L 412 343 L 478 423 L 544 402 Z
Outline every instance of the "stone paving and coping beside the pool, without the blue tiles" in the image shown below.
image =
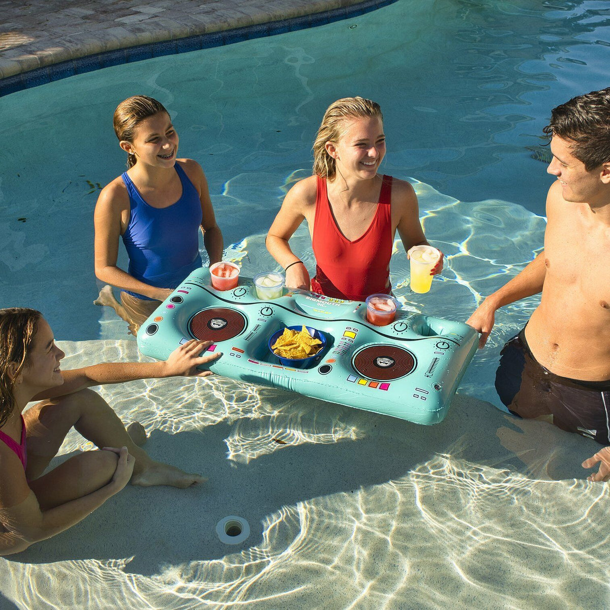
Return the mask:
M 0 0 L 0 79 L 78 57 L 365 0 Z

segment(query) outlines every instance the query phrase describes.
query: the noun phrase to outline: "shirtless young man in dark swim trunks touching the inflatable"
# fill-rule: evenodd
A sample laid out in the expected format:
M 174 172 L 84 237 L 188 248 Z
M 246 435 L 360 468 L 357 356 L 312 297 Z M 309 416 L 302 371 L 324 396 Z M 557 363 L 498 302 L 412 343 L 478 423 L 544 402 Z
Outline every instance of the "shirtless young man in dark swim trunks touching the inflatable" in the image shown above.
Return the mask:
M 557 180 L 542 251 L 467 320 L 483 347 L 497 309 L 542 291 L 504 346 L 496 389 L 509 411 L 610 445 L 610 88 L 553 109 L 545 133 Z M 610 447 L 583 462 L 610 479 Z

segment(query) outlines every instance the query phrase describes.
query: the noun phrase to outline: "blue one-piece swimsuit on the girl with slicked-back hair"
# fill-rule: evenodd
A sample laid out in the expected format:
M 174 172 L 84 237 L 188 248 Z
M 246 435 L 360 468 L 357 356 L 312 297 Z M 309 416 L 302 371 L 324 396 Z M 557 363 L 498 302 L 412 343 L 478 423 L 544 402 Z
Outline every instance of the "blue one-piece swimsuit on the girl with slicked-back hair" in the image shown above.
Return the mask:
M 199 226 L 203 215 L 199 193 L 176 163 L 182 195 L 168 207 L 149 206 L 125 172 L 121 178 L 129 193 L 129 224 L 123 243 L 129 256 L 129 274 L 157 288 L 176 288 L 193 270 L 201 267 Z M 139 299 L 148 296 L 129 292 Z

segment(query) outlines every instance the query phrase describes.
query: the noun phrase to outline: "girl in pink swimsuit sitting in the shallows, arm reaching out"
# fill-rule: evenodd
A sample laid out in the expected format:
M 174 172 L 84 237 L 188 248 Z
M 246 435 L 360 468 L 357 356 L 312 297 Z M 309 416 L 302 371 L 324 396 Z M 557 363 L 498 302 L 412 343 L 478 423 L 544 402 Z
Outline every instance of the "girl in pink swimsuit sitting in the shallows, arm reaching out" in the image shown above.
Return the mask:
M 18 553 L 78 523 L 132 485 L 188 487 L 199 475 L 152 461 L 144 428 L 124 428 L 90 386 L 150 377 L 210 375 L 196 369 L 211 342 L 189 341 L 167 362 L 107 362 L 60 370 L 65 355 L 34 309 L 0 309 L 0 555 Z M 199 357 L 202 352 L 206 356 Z M 32 400 L 37 404 L 24 409 Z M 22 415 L 23 412 L 23 415 Z M 43 474 L 74 428 L 99 447 Z

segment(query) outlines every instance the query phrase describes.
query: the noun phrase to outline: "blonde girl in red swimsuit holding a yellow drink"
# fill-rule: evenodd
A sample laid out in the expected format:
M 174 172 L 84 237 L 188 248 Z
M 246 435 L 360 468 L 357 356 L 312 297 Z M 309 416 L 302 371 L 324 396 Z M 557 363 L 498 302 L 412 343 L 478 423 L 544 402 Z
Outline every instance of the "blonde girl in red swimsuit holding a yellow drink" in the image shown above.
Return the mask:
M 428 245 L 411 184 L 378 173 L 385 154 L 379 104 L 356 97 L 328 107 L 314 143 L 314 175 L 290 189 L 267 234 L 267 249 L 284 267 L 287 287 L 364 301 L 392 290 L 397 230 L 407 252 Z M 312 279 L 289 245 L 303 220 L 316 260 Z M 432 274 L 442 267 L 441 256 Z

